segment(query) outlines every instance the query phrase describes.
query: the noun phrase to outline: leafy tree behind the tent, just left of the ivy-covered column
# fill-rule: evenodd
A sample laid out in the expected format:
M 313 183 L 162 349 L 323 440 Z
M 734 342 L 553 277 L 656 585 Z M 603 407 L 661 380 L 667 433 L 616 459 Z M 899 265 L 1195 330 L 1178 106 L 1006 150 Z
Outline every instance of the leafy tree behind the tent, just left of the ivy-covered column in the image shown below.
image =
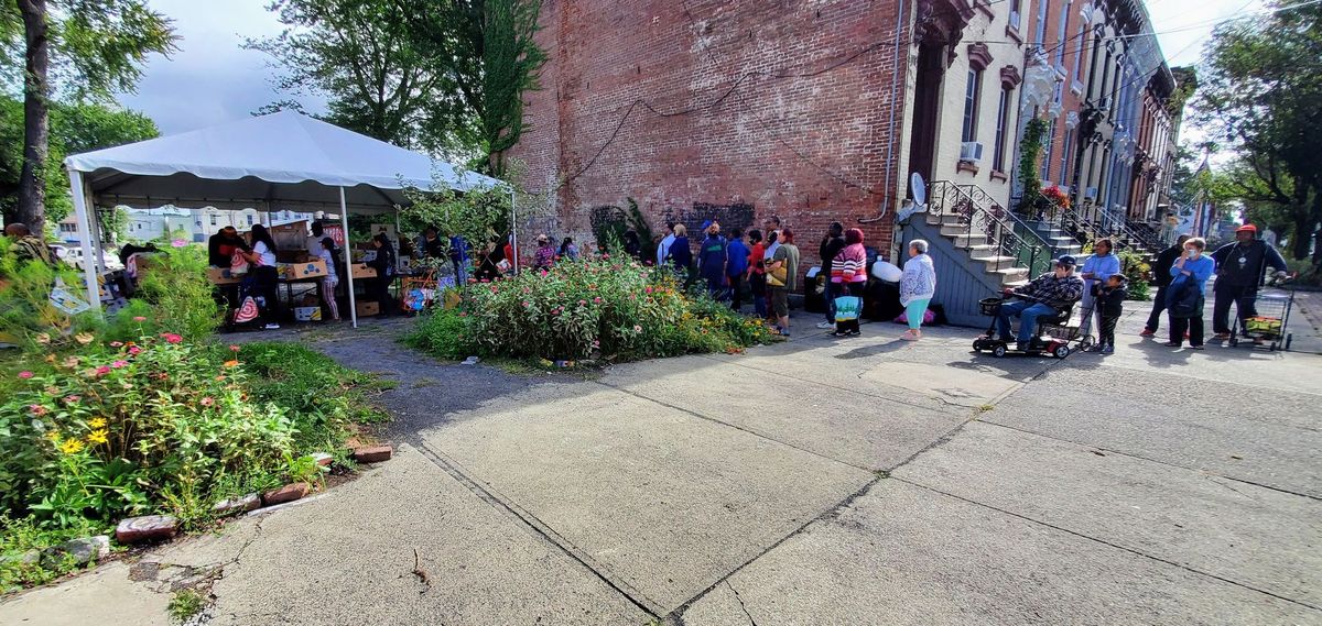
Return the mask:
M 390 0 L 275 0 L 268 7 L 290 26 L 245 48 L 274 58 L 276 88 L 328 98 L 327 122 L 406 148 L 461 149 L 455 127 L 464 114 L 442 58 L 406 37 L 412 7 Z M 282 100 L 260 112 L 301 111 Z

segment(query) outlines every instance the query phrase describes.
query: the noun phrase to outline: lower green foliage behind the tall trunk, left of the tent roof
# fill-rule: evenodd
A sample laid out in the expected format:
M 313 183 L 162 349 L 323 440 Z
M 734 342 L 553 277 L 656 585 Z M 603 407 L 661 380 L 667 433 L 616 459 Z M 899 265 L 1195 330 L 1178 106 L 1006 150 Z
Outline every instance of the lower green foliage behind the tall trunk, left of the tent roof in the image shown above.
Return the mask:
M 19 217 L 19 180 L 24 162 L 24 104 L 0 94 L 0 211 L 7 221 Z M 67 155 L 141 141 L 159 135 L 156 124 L 136 111 L 100 103 L 50 104 L 50 136 L 46 158 L 52 164 Z M 59 168 L 44 170 L 45 215 L 58 222 L 69 215 L 69 178 Z

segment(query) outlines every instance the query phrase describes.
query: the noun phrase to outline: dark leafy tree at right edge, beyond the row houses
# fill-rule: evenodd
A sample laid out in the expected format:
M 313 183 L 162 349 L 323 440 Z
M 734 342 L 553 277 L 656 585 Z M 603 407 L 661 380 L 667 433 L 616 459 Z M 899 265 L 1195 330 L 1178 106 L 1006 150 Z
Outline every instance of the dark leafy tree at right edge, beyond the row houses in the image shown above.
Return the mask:
M 1322 5 L 1269 7 L 1215 30 L 1195 120 L 1240 155 L 1245 206 L 1289 217 L 1303 259 L 1322 222 Z

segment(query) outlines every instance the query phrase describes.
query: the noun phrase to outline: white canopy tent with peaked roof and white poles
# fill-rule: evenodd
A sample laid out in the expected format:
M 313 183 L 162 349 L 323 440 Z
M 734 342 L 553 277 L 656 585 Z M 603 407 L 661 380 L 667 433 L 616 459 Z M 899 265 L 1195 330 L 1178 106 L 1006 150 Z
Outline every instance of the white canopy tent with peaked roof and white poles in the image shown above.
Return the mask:
M 102 258 L 97 221 L 89 219 L 90 207 L 98 205 L 168 202 L 267 211 L 338 206 L 348 234 L 350 210 L 397 211 L 407 203 L 408 188 L 467 191 L 506 185 L 293 111 L 74 155 L 65 158 L 65 168 L 83 259 Z M 93 306 L 100 304 L 98 263 L 83 264 Z M 357 326 L 353 276 L 345 275 Z

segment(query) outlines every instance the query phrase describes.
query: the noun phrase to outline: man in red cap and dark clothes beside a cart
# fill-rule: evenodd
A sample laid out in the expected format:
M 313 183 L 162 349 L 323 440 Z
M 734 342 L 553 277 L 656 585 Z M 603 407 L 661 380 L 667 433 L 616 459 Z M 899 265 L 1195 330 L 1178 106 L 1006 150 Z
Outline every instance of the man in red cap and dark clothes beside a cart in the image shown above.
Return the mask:
M 1235 243 L 1227 243 L 1216 252 L 1212 260 L 1216 261 L 1216 301 L 1212 304 L 1212 331 L 1216 339 L 1229 339 L 1235 329 L 1231 328 L 1231 302 L 1235 304 L 1240 325 L 1243 321 L 1257 314 L 1253 300 L 1257 297 L 1257 288 L 1263 284 L 1266 268 L 1276 269 L 1276 273 L 1285 273 L 1285 259 L 1272 247 L 1272 244 L 1257 238 L 1257 227 L 1244 225 L 1235 228 Z

